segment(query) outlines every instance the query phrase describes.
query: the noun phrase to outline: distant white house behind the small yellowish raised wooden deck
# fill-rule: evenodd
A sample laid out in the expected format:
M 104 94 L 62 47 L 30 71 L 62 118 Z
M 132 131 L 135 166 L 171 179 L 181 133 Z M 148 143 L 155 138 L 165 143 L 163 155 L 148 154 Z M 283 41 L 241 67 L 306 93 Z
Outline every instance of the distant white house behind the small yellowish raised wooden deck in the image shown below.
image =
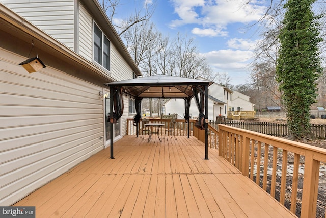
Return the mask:
M 250 97 L 237 91 L 231 95 L 229 111 L 254 111 L 255 104 L 250 102 Z

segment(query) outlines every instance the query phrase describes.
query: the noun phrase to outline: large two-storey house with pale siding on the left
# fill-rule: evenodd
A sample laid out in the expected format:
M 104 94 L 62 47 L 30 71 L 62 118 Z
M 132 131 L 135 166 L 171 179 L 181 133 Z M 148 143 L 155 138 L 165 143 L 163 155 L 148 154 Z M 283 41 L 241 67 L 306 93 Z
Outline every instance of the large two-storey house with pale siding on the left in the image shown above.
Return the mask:
M 0 0 L 0 205 L 109 146 L 103 84 L 139 75 L 97 0 Z M 127 96 L 115 140 L 133 113 Z

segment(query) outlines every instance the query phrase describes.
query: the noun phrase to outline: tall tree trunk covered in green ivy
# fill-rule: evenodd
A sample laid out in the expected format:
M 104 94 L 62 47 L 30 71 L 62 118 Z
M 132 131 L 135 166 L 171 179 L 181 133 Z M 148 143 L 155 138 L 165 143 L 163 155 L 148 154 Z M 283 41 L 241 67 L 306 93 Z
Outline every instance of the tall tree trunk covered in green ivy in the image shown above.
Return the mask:
M 316 80 L 322 74 L 318 57 L 319 17 L 314 16 L 314 0 L 288 0 L 279 38 L 277 81 L 282 103 L 287 111 L 290 135 L 294 139 L 309 137 L 310 105 L 316 101 Z

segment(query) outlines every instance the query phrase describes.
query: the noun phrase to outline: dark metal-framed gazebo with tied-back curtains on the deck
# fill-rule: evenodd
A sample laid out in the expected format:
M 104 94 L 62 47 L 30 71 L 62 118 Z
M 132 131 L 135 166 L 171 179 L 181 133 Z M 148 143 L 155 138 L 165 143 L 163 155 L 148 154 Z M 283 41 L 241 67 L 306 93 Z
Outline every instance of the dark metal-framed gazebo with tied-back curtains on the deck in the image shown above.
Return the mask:
M 135 98 L 136 115 L 134 123 L 136 125 L 136 135 L 138 137 L 138 125 L 141 119 L 142 99 L 150 98 L 182 98 L 184 99 L 185 116 L 189 124 L 190 99 L 195 97 L 199 110 L 199 119 L 196 126 L 205 130 L 205 159 L 208 159 L 208 86 L 213 82 L 208 80 L 189 79 L 168 75 L 154 75 L 148 77 L 122 80 L 106 83 L 110 87 L 110 131 L 111 131 L 111 158 L 114 159 L 113 147 L 113 123 L 116 122 L 123 112 L 123 93 Z M 199 94 L 199 96 L 198 96 Z M 189 125 L 188 125 L 189 138 Z

